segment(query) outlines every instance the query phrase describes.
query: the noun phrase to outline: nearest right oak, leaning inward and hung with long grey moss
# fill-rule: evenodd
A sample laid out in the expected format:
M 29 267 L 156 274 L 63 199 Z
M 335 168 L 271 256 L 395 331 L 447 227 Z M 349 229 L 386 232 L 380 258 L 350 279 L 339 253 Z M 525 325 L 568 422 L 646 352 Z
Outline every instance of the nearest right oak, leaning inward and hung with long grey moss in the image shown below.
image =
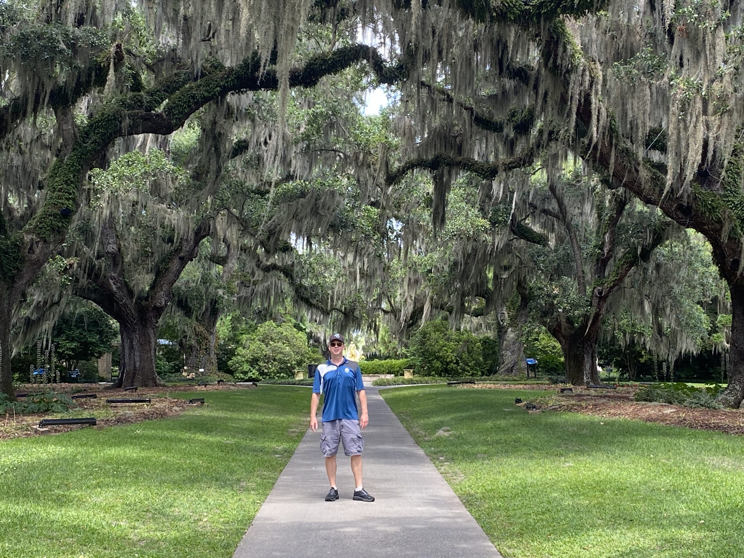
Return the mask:
M 402 52 L 414 45 L 418 62 L 402 88 L 417 117 L 409 137 L 429 140 L 408 167 L 480 167 L 496 178 L 531 164 L 536 147 L 552 139 L 607 187 L 625 188 L 702 233 L 731 291 L 732 373 L 721 400 L 740 405 L 744 105 L 737 3 L 391 4 L 376 4 L 376 15 L 394 13 L 382 18 L 381 34 L 391 42 L 400 37 Z M 452 124 L 433 126 L 434 113 Z M 452 129 L 464 132 L 453 138 Z M 441 187 L 437 206 L 445 192 Z

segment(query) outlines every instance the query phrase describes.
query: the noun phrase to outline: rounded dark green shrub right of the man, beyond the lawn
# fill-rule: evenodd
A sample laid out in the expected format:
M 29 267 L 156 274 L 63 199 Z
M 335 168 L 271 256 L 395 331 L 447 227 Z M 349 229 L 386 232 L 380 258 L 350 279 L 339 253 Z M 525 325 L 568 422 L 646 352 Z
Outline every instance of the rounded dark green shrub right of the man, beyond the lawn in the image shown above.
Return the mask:
M 444 320 L 429 321 L 411 340 L 411 360 L 420 376 L 480 376 L 481 341 L 468 331 L 453 331 Z

